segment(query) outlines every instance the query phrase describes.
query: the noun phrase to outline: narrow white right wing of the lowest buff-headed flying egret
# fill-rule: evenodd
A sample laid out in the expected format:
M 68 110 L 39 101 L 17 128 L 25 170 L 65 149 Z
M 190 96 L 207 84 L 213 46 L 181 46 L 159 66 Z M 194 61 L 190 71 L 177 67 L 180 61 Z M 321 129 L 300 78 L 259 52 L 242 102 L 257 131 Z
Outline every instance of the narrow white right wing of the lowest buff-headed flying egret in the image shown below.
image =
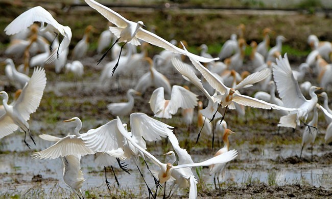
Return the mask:
M 209 166 L 211 164 L 225 163 L 225 162 L 231 161 L 236 156 L 238 156 L 238 151 L 231 150 L 231 151 L 228 151 L 228 152 L 223 153 L 221 155 L 218 155 L 218 156 L 215 156 L 215 157 L 210 158 L 208 160 L 205 160 L 203 162 L 191 163 L 191 164 L 180 164 L 180 165 L 177 165 L 177 166 L 173 166 L 173 169 L 184 168 L 184 167 Z

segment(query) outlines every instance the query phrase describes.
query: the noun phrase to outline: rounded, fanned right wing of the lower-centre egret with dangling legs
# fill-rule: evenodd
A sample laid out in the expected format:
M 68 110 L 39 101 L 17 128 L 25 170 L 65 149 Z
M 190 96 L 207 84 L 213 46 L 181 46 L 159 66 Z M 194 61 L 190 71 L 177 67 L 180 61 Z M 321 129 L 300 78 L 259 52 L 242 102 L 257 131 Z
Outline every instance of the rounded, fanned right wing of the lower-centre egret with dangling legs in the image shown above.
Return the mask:
M 173 127 L 150 118 L 145 113 L 135 112 L 130 115 L 132 137 L 140 146 L 145 147 L 145 141 L 156 141 L 173 133 Z M 143 139 L 144 138 L 144 139 Z

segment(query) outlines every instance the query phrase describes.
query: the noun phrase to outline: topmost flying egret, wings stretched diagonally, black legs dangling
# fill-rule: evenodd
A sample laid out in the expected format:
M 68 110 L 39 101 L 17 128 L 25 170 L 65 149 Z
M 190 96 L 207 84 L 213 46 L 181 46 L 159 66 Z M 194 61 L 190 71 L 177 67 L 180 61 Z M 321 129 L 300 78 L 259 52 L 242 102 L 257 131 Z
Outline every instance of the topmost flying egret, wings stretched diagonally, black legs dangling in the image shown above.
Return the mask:
M 141 39 L 150 44 L 159 46 L 161 48 L 170 50 L 172 52 L 186 54 L 187 56 L 194 58 L 200 62 L 211 62 L 214 60 L 219 60 L 219 58 L 208 59 L 208 58 L 203 58 L 202 56 L 198 56 L 193 53 L 185 52 L 183 49 L 174 46 L 173 44 L 162 39 L 161 37 L 157 36 L 156 34 L 142 29 L 142 27 L 146 27 L 142 21 L 138 21 L 138 22 L 129 21 L 126 18 L 124 18 L 123 16 L 121 16 L 120 14 L 114 12 L 110 8 L 107 8 L 106 6 L 100 4 L 96 1 L 85 0 L 85 2 L 91 8 L 97 10 L 100 14 L 102 14 L 105 18 L 107 18 L 111 23 L 114 23 L 117 26 L 117 27 L 110 26 L 109 30 L 118 38 L 114 42 L 114 44 L 124 42 L 124 44 L 121 46 L 121 50 L 126 45 L 126 43 L 131 43 L 136 46 L 140 45 L 140 42 L 138 41 L 138 39 Z M 110 48 L 112 48 L 112 46 Z M 118 57 L 118 60 L 120 59 L 120 56 L 121 56 L 121 50 L 120 50 L 120 55 Z M 107 52 L 108 52 L 108 50 L 107 50 Z M 98 63 L 100 63 L 104 59 L 107 52 L 102 56 L 102 58 L 98 61 Z M 117 60 L 117 62 L 118 62 L 118 60 Z M 117 65 L 118 65 L 118 63 L 115 64 L 112 73 L 114 73 Z

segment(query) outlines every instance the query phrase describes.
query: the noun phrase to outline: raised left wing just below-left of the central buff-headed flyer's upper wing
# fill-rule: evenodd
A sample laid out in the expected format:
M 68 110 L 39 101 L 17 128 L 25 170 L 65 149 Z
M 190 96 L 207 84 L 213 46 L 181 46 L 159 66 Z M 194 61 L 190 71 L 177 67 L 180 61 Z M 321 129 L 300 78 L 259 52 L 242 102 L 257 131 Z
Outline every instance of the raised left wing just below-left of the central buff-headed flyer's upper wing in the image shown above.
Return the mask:
M 184 64 L 183 62 L 181 62 L 176 58 L 172 58 L 172 63 L 173 66 L 176 68 L 176 70 L 178 70 L 179 73 L 182 74 L 184 79 L 195 84 L 195 86 L 198 87 L 209 100 L 212 100 L 211 96 L 204 89 L 201 80 L 196 76 L 192 68 L 190 68 L 189 66 L 187 66 L 186 64 Z

